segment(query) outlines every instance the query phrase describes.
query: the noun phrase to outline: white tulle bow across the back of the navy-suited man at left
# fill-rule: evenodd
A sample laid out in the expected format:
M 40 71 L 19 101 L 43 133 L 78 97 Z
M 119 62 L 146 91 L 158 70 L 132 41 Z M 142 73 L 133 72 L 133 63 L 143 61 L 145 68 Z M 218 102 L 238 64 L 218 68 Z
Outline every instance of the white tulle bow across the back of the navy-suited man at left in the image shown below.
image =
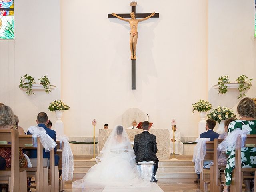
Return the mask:
M 44 130 L 44 128 L 38 126 L 30 126 L 28 131 L 32 134 L 34 147 L 37 147 L 38 137 L 40 138 L 40 142 L 42 143 L 42 146 L 46 152 L 49 152 L 57 146 L 56 142 L 48 134 L 46 134 L 46 130 Z

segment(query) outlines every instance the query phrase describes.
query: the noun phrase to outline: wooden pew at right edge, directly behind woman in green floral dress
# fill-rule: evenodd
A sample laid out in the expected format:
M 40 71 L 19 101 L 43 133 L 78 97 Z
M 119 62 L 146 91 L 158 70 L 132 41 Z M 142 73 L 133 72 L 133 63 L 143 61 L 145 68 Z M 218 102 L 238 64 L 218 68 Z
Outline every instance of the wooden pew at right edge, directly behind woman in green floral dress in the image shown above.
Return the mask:
M 241 146 L 241 137 L 237 140 L 238 146 Z M 256 135 L 247 135 L 244 147 L 256 147 Z M 230 192 L 242 192 L 242 183 L 244 178 L 254 178 L 254 190 L 256 189 L 256 168 L 242 168 L 241 166 L 241 148 L 236 149 L 236 164 L 233 170 Z M 245 176 L 243 172 L 254 172 L 253 176 Z

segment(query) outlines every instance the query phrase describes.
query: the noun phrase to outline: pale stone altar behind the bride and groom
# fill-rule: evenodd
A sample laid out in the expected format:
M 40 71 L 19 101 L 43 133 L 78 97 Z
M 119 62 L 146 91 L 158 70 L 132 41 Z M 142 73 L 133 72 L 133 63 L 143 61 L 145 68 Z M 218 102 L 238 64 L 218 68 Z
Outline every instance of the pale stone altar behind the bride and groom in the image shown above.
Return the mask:
M 126 129 L 130 141 L 134 141 L 134 136 L 140 134 L 142 129 Z M 102 150 L 112 129 L 99 130 L 99 152 Z M 168 129 L 150 129 L 149 132 L 156 136 L 157 153 L 159 160 L 169 160 L 170 157 L 170 133 Z

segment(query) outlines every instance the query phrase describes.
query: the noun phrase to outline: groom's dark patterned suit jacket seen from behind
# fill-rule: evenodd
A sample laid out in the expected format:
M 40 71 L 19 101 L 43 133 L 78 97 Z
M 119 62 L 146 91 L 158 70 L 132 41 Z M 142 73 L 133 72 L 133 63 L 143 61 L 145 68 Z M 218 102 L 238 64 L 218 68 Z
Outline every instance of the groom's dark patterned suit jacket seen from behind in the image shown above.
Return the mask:
M 143 131 L 141 134 L 138 134 L 134 138 L 133 150 L 136 155 L 136 162 L 146 160 L 158 162 L 156 157 L 156 136 L 150 134 L 148 131 Z

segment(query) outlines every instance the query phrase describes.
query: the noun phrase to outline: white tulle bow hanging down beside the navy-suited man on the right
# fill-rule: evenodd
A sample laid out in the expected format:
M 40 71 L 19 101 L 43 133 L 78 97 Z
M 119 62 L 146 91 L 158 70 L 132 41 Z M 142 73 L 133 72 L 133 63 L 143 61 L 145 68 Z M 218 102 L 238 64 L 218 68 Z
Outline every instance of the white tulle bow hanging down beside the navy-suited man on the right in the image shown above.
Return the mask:
M 193 153 L 193 162 L 195 162 L 195 172 L 201 173 L 202 166 L 201 162 L 204 160 L 206 154 L 206 142 L 210 141 L 210 138 L 197 138 L 195 142 L 197 142 L 194 153 Z

